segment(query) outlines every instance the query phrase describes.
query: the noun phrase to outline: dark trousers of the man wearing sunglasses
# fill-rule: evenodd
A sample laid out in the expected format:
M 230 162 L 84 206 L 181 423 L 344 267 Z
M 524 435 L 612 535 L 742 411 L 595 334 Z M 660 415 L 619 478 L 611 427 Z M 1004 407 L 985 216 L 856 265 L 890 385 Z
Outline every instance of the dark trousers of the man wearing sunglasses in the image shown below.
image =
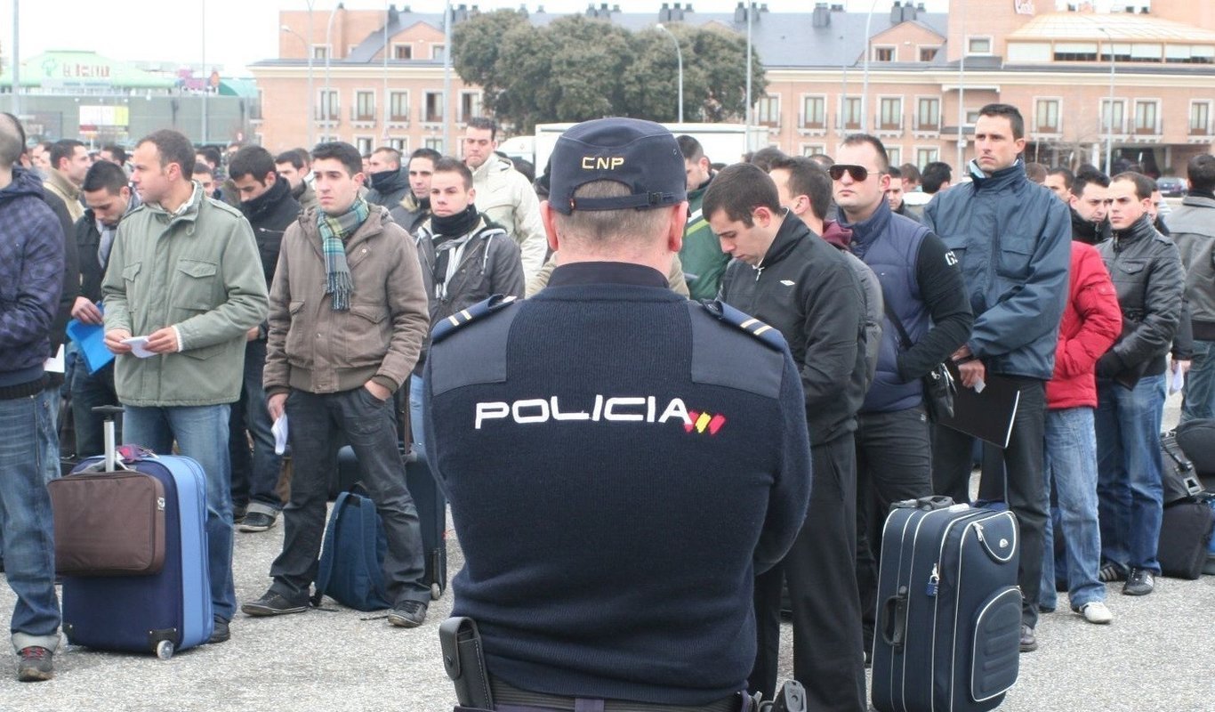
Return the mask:
M 857 417 L 857 589 L 865 650 L 874 644 L 882 527 L 891 504 L 932 495 L 932 428 L 923 406 Z

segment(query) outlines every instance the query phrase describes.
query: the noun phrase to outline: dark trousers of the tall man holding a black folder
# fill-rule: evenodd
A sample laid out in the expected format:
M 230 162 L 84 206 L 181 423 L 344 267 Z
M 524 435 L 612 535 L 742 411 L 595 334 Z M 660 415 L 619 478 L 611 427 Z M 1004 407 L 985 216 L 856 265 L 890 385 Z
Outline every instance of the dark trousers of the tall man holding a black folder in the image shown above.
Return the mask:
M 1046 437 L 1046 383 L 1035 378 L 1005 377 L 1021 390 L 1017 417 L 1008 447 L 1004 450 L 1005 492 L 1008 509 L 1017 515 L 1021 536 L 1021 620 L 1038 625 L 1038 592 L 1042 580 L 1042 536 L 1050 497 L 1042 475 Z M 933 487 L 955 502 L 970 502 L 974 439 L 945 426 L 934 428 L 932 443 Z

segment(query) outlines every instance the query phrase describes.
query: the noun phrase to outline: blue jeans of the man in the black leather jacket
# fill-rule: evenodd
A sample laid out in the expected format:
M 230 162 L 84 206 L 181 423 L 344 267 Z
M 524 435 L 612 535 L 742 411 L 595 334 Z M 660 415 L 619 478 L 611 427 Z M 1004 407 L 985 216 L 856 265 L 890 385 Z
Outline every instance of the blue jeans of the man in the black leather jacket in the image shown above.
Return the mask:
M 1126 389 L 1097 382 L 1097 497 L 1102 556 L 1160 572 L 1155 548 L 1164 516 L 1160 411 L 1165 377 L 1148 375 Z

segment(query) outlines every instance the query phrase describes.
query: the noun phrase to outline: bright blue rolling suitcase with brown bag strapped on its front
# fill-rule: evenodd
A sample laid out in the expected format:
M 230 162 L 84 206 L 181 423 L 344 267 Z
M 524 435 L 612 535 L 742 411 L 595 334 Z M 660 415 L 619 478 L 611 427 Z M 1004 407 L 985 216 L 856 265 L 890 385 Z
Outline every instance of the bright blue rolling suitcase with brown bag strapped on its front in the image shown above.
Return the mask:
M 113 453 L 113 422 L 106 425 Z M 188 457 L 120 448 L 122 465 L 152 475 L 164 486 L 164 564 L 147 576 L 63 578 L 63 632 L 68 643 L 97 650 L 156 652 L 207 643 L 211 637 L 210 575 L 207 559 L 207 481 Z M 91 457 L 74 471 L 113 471 L 113 456 Z

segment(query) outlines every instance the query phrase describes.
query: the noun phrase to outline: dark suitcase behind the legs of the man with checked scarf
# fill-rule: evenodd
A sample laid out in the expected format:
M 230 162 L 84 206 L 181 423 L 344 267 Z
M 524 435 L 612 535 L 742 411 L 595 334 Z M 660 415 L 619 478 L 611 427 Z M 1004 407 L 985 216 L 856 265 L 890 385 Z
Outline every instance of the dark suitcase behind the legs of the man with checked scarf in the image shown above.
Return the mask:
M 430 584 L 430 597 L 437 600 L 447 589 L 447 498 L 430 474 L 425 463 L 418 462 L 412 453 L 403 453 L 405 485 L 418 508 L 418 522 L 422 525 L 422 546 L 426 558 L 426 583 Z M 338 473 L 335 482 L 339 491 L 362 480 L 358 458 L 349 445 L 338 451 Z

